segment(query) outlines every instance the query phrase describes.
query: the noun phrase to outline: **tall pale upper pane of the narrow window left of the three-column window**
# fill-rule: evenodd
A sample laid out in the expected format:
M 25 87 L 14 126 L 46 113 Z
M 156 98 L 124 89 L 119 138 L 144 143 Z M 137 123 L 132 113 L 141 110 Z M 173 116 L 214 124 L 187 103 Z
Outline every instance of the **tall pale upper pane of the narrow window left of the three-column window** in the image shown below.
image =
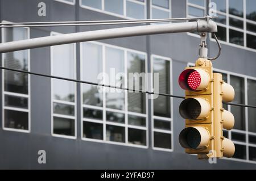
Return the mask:
M 52 75 L 75 79 L 75 44 L 52 47 Z M 53 99 L 75 102 L 75 82 L 52 79 Z

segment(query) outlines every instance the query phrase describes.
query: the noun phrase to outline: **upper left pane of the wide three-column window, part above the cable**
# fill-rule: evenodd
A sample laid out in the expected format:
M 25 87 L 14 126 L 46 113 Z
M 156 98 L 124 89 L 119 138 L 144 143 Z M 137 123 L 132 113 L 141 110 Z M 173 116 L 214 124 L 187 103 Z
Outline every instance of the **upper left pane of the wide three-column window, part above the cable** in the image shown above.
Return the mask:
M 82 43 L 82 80 L 99 82 L 98 74 L 102 73 L 102 45 Z

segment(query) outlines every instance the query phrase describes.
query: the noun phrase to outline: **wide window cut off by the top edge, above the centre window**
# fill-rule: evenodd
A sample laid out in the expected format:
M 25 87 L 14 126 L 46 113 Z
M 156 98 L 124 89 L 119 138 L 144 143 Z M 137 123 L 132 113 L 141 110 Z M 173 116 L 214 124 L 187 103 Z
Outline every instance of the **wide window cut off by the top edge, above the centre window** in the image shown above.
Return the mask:
M 145 0 L 80 0 L 80 6 L 131 19 L 146 19 Z

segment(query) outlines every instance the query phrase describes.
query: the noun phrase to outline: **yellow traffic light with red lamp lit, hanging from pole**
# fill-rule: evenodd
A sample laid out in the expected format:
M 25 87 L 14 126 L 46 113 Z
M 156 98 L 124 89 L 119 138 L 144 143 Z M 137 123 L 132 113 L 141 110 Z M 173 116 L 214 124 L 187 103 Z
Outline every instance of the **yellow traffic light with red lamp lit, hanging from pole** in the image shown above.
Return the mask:
M 234 89 L 222 81 L 222 74 L 213 73 L 212 62 L 199 58 L 195 67 L 188 67 L 179 76 L 185 99 L 179 112 L 185 128 L 179 134 L 185 153 L 199 159 L 232 157 L 234 144 L 223 137 L 222 129 L 232 129 L 234 116 L 222 108 L 222 100 L 231 102 Z

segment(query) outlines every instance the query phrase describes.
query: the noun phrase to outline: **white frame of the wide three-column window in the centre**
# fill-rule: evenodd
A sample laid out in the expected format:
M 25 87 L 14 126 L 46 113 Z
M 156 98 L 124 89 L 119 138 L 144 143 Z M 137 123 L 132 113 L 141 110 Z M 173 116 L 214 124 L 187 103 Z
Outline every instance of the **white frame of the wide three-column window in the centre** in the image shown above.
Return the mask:
M 132 53 L 138 53 L 138 54 L 143 54 L 145 56 L 145 73 L 147 73 L 147 53 L 145 52 L 141 52 L 138 50 L 134 50 L 134 49 L 129 49 L 129 48 L 124 48 L 124 47 L 118 47 L 117 45 L 111 45 L 111 44 L 106 44 L 106 43 L 101 43 L 99 41 L 88 41 L 86 43 L 92 43 L 92 44 L 96 44 L 96 45 L 101 45 L 102 47 L 102 72 L 105 72 L 105 62 L 106 62 L 106 57 L 105 57 L 105 49 L 106 47 L 108 48 L 115 48 L 115 49 L 119 49 L 119 50 L 123 50 L 124 51 L 124 61 L 125 61 L 125 74 L 127 74 L 127 52 L 132 52 Z M 80 43 L 80 77 L 82 78 L 82 62 L 83 60 L 83 53 L 82 53 L 82 42 Z M 126 82 L 126 87 L 127 87 L 127 80 Z M 147 86 L 147 83 L 146 83 Z M 92 142 L 101 142 L 101 143 L 106 143 L 106 144 L 114 144 L 114 145 L 122 145 L 122 146 L 131 146 L 131 147 L 136 147 L 136 148 L 143 148 L 143 149 L 148 149 L 148 95 L 145 93 L 145 102 L 146 102 L 146 112 L 145 113 L 137 113 L 137 112 L 130 112 L 128 111 L 128 100 L 127 100 L 127 96 L 128 96 L 129 92 L 125 92 L 125 110 L 117 110 L 117 109 L 113 109 L 113 108 L 107 108 L 106 107 L 106 92 L 103 93 L 102 95 L 102 107 L 98 107 L 98 106 L 91 106 L 91 105 L 86 105 L 83 104 L 83 95 L 82 95 L 82 85 L 80 87 L 80 103 L 81 103 L 81 140 L 83 141 L 92 141 Z M 102 115 L 103 115 L 103 119 L 101 120 L 95 120 L 95 119 L 88 119 L 88 118 L 84 118 L 83 117 L 83 108 L 92 108 L 95 110 L 101 110 L 102 111 Z M 110 111 L 110 112 L 115 112 L 115 113 L 124 113 L 125 114 L 125 123 L 114 123 L 111 121 L 106 121 L 106 112 Z M 142 126 L 137 126 L 137 125 L 129 125 L 128 123 L 128 115 L 133 115 L 133 116 L 139 116 L 139 117 L 145 117 L 146 119 L 146 125 L 145 127 Z M 83 136 L 83 123 L 84 121 L 90 122 L 90 123 L 100 123 L 102 124 L 102 128 L 103 128 L 103 139 L 102 140 L 97 140 L 94 138 L 86 138 Z M 125 142 L 115 142 L 115 141 L 107 141 L 106 140 L 106 125 L 114 125 L 114 126 L 121 126 L 123 128 L 125 128 Z M 146 145 L 136 145 L 136 144 L 130 144 L 129 143 L 129 139 L 128 139 L 128 129 L 129 128 L 134 128 L 134 129 L 139 129 L 139 130 L 143 130 L 146 131 Z

